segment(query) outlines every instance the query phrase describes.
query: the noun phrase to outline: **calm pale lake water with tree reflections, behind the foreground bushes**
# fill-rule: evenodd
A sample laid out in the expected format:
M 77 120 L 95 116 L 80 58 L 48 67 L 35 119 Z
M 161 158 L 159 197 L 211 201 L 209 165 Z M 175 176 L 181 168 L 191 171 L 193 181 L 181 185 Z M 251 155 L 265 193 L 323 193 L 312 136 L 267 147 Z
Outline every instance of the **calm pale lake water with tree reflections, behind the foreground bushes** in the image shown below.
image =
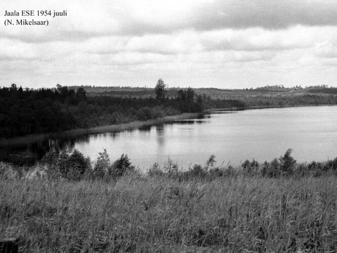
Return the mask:
M 70 143 L 92 160 L 103 149 L 111 161 L 128 154 L 141 168 L 162 165 L 168 156 L 181 168 L 203 165 L 212 154 L 218 165 L 239 165 L 252 158 L 264 162 L 288 148 L 300 162 L 319 161 L 337 156 L 337 106 L 218 111 L 145 129 L 49 140 L 25 149 L 41 156 L 50 146 L 62 149 Z

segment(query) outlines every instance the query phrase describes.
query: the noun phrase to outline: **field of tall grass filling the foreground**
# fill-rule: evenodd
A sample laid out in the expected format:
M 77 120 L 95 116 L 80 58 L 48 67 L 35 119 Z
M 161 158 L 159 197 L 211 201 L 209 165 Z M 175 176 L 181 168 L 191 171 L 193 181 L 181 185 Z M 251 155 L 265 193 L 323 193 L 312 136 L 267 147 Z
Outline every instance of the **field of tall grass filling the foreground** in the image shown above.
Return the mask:
M 336 251 L 337 177 L 0 180 L 22 251 Z

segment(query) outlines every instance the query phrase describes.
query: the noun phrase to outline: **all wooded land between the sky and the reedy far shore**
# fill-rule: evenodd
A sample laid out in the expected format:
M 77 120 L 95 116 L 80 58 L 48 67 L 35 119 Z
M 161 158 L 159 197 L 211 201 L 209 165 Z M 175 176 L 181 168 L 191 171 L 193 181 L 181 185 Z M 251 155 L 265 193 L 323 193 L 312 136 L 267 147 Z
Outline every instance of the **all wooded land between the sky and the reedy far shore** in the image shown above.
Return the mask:
M 160 82 L 161 81 L 161 82 Z M 336 88 L 0 88 L 0 139 L 156 119 L 213 108 L 335 105 Z M 158 86 L 157 83 L 157 86 Z M 283 89 L 283 90 L 282 90 Z

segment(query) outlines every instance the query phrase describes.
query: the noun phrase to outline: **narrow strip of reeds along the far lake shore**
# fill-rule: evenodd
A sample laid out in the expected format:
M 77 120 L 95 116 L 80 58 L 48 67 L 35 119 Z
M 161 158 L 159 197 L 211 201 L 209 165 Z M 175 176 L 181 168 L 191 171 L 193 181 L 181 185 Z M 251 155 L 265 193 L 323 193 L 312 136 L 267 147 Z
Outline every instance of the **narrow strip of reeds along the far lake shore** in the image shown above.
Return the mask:
M 125 130 L 134 130 L 134 129 L 142 128 L 144 126 L 167 123 L 167 122 L 172 122 L 174 120 L 193 119 L 193 118 L 197 118 L 199 115 L 207 114 L 213 111 L 239 111 L 239 110 L 252 110 L 252 109 L 306 107 L 306 106 L 334 106 L 334 105 L 331 105 L 331 104 L 282 105 L 282 106 L 249 106 L 249 107 L 212 108 L 212 109 L 204 110 L 201 113 L 182 113 L 179 115 L 165 116 L 163 118 L 149 119 L 145 121 L 132 121 L 129 123 L 122 123 L 122 124 L 95 126 L 93 128 L 88 128 L 88 129 L 72 129 L 72 130 L 67 130 L 67 131 L 59 132 L 59 133 L 34 134 L 34 135 L 26 135 L 26 136 L 15 137 L 15 138 L 10 138 L 10 139 L 0 139 L 0 147 L 26 145 L 29 143 L 44 141 L 47 139 L 58 139 L 58 138 L 64 139 L 64 138 L 73 138 L 73 137 L 82 136 L 82 135 L 116 133 L 116 132 L 121 132 Z

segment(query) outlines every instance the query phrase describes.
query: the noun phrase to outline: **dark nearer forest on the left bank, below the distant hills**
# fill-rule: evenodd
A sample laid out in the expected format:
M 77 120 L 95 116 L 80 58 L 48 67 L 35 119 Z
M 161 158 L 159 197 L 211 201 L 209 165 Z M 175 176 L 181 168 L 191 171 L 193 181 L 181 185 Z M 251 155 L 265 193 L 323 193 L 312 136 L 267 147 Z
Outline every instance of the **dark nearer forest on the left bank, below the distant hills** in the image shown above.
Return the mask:
M 98 125 L 155 119 L 209 107 L 242 107 L 235 100 L 211 100 L 189 88 L 176 97 L 87 96 L 85 89 L 0 89 L 0 138 L 60 132 Z

